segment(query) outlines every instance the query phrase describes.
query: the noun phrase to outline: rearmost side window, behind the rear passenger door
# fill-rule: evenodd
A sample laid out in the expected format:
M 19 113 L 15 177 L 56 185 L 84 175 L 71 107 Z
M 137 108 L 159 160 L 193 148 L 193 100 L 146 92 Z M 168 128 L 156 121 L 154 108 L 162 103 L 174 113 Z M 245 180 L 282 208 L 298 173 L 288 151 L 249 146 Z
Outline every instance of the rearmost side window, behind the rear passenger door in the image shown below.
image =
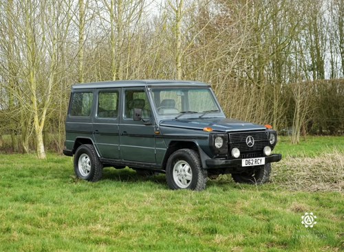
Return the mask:
M 91 115 L 93 102 L 93 93 L 73 93 L 72 105 L 69 115 L 71 116 L 89 116 Z

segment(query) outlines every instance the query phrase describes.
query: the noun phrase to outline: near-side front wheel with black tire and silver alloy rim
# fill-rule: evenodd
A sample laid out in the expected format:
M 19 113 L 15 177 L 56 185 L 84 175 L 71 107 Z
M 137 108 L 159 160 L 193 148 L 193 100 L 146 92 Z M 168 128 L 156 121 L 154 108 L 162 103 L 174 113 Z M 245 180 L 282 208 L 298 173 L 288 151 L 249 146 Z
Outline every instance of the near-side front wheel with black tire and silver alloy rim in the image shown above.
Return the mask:
M 207 171 L 201 167 L 195 150 L 181 149 L 173 152 L 166 164 L 166 181 L 172 190 L 202 191 L 206 187 Z

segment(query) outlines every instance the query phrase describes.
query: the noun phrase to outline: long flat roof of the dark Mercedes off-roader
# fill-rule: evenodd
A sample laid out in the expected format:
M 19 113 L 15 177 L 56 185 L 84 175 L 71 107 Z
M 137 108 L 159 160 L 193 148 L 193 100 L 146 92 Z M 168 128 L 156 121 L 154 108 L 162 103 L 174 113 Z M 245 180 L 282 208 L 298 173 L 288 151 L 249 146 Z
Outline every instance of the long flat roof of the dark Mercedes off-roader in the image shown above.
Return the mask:
M 204 82 L 191 80 L 116 80 L 74 84 L 72 89 L 105 89 L 114 87 L 209 87 Z

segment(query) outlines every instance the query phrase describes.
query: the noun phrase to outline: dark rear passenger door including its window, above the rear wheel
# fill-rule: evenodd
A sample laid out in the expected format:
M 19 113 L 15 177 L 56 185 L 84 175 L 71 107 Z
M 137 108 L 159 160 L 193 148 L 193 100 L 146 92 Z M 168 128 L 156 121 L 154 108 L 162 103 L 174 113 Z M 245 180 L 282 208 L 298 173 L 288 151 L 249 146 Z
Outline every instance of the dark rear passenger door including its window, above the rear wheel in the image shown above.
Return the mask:
M 97 92 L 93 133 L 100 155 L 120 159 L 120 89 L 100 89 Z

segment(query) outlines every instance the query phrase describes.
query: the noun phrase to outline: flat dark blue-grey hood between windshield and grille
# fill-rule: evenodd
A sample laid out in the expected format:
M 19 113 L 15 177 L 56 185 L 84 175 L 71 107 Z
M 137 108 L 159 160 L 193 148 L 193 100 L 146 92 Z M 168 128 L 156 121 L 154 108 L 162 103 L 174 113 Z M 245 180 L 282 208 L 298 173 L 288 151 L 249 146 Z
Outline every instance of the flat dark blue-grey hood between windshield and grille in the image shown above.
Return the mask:
M 228 118 L 166 119 L 160 121 L 160 126 L 195 130 L 203 130 L 205 127 L 210 127 L 215 132 L 266 129 L 264 126 L 258 124 Z

